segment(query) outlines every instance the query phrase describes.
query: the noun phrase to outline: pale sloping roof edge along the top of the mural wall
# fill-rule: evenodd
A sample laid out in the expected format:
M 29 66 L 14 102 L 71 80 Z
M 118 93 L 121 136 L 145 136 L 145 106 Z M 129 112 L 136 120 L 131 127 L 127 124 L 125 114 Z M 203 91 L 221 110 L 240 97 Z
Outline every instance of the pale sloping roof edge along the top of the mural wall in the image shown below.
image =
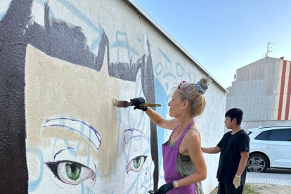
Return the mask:
M 200 67 L 205 73 L 207 73 L 207 75 L 209 75 L 209 77 L 211 77 L 213 81 L 216 82 L 216 84 L 219 84 L 219 86 L 221 86 L 221 88 L 224 89 L 224 91 L 228 92 L 228 90 L 217 79 L 215 79 L 214 76 L 212 76 L 205 69 L 205 67 L 203 67 L 198 62 L 198 60 L 193 58 L 193 56 L 191 56 L 190 53 L 188 53 L 188 51 L 186 51 L 186 49 L 183 48 L 183 46 L 181 46 L 181 44 L 179 44 L 166 30 L 164 30 L 164 28 L 159 23 L 157 23 L 136 1 L 134 0 L 127 0 L 127 1 L 129 2 L 129 4 L 134 6 L 145 18 L 147 18 L 157 28 L 157 30 L 160 30 L 160 32 L 162 32 L 162 34 L 164 34 L 165 37 L 167 37 L 170 41 L 172 41 L 172 43 L 175 46 L 177 46 L 183 53 L 185 53 L 186 56 L 190 58 L 190 60 L 192 60 L 196 65 L 198 65 L 198 67 Z

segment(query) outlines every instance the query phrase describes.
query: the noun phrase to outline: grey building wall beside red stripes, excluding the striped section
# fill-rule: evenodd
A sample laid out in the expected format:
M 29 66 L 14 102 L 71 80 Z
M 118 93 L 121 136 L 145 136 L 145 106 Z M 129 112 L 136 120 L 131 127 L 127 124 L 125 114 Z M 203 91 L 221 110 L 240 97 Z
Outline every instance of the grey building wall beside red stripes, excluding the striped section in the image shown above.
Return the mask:
M 237 70 L 228 87 L 226 110 L 241 108 L 244 121 L 270 120 L 274 115 L 280 60 L 263 58 Z

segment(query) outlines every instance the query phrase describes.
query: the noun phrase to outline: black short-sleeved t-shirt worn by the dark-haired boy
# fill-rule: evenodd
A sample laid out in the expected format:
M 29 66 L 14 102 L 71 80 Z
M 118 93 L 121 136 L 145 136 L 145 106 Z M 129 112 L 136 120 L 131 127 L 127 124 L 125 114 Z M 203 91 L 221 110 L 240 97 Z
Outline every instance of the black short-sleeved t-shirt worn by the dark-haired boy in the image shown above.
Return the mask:
M 221 148 L 221 153 L 216 178 L 219 182 L 232 184 L 240 164 L 240 153 L 250 152 L 250 137 L 243 129 L 233 135 L 229 131 L 224 134 L 217 147 Z M 245 184 L 245 176 L 247 168 L 240 176 L 241 185 Z

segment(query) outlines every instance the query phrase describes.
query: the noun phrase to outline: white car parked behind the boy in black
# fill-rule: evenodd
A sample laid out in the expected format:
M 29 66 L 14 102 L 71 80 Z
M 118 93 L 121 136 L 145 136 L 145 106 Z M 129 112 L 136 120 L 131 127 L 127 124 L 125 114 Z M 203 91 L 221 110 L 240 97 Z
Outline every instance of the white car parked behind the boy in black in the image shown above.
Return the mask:
M 291 126 L 259 127 L 248 131 L 250 157 L 247 160 L 247 171 L 291 169 Z

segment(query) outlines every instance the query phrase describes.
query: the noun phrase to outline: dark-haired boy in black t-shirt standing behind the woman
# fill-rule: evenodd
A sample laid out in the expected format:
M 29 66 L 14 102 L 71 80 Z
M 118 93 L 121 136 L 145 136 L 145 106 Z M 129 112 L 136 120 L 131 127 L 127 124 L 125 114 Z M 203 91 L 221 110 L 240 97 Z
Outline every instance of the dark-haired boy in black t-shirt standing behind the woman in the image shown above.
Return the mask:
M 218 194 L 243 193 L 247 176 L 247 159 L 250 152 L 250 138 L 240 127 L 243 110 L 232 108 L 226 112 L 226 128 L 221 141 L 212 148 L 201 148 L 203 153 L 221 153 L 216 178 L 219 181 Z

